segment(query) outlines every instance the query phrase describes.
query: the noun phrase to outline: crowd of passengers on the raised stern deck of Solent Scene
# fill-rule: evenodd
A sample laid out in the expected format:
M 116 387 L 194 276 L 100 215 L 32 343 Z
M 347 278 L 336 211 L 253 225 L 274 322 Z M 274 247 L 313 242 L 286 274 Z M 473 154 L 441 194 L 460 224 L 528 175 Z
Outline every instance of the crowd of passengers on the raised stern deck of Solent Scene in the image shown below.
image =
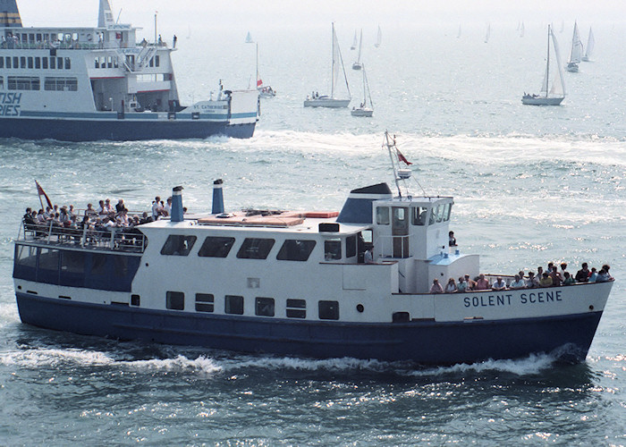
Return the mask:
M 98 207 L 94 208 L 91 203 L 82 212 L 82 215 L 73 205 L 58 207 L 40 208 L 38 211 L 28 207 L 24 214 L 24 225 L 28 229 L 38 227 L 68 230 L 84 230 L 95 232 L 112 232 L 115 228 L 122 231 L 131 231 L 135 226 L 143 223 L 154 222 L 162 217 L 170 215 L 172 208 L 172 198 L 167 198 L 164 202 L 158 196 L 152 202 L 152 213 L 144 212 L 142 215 L 129 215 L 123 198 L 120 198 L 113 206 L 109 198 L 98 201 Z M 183 208 L 183 211 L 185 209 Z

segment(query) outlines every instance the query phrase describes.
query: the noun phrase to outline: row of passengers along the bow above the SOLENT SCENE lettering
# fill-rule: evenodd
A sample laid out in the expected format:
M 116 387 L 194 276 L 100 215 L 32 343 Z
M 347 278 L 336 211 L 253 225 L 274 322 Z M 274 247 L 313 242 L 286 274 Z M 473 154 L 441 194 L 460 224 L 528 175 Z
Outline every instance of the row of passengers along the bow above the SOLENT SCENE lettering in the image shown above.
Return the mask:
M 497 276 L 493 283 L 490 283 L 485 274 L 479 274 L 474 279 L 469 274 L 461 276 L 456 282 L 450 278 L 448 283 L 442 285 L 438 279 L 433 280 L 430 293 L 456 293 L 464 291 L 505 291 L 517 289 L 534 289 L 537 287 L 557 287 L 571 285 L 575 283 L 605 283 L 613 281 L 613 276 L 609 273 L 610 266 L 604 265 L 598 272 L 596 267 L 588 268 L 588 264 L 583 262 L 580 270 L 572 276 L 566 269 L 567 264 L 561 264 L 561 270 L 554 263 L 549 263 L 547 270 L 544 267 L 537 267 L 537 274 L 529 272 L 525 275 L 523 271 L 516 274 L 511 283 L 506 283 L 502 276 Z

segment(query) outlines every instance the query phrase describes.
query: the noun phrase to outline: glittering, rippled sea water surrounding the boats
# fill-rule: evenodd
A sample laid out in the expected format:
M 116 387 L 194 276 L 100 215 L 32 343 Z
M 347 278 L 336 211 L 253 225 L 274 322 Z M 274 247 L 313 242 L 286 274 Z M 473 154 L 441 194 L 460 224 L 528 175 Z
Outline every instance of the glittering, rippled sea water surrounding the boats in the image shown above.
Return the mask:
M 352 30 L 340 25 L 355 105 L 361 74 L 350 69 Z M 259 71 L 278 96 L 262 100 L 253 139 L 0 141 L 0 444 L 626 443 L 625 31 L 594 28 L 595 62 L 566 73 L 560 107 L 520 103 L 543 77 L 543 25 L 527 23 L 520 38 L 492 24 L 488 44 L 478 29 L 456 38 L 456 25 L 385 30 L 377 49 L 372 36 L 363 55 L 372 118 L 303 108 L 311 91 L 328 93 L 330 30 L 274 30 L 258 36 Z M 238 43 L 244 34 L 195 34 L 173 55 L 182 102 L 207 97 L 220 78 L 246 87 L 255 67 L 252 46 Z M 55 204 L 78 208 L 123 198 L 149 210 L 182 185 L 184 205 L 207 211 L 221 178 L 226 210 L 338 210 L 351 189 L 394 188 L 385 130 L 413 163 L 414 194 L 454 196 L 452 229 L 462 252 L 481 255 L 482 272 L 612 266 L 616 282 L 585 362 L 537 355 L 423 368 L 21 324 L 13 240 L 24 209 L 39 207 L 35 180 Z

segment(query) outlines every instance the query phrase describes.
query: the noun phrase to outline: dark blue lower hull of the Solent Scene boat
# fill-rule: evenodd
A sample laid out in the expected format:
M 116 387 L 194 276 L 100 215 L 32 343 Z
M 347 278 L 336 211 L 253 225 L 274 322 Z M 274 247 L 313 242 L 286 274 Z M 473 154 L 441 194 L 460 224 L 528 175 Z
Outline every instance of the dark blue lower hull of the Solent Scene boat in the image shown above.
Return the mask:
M 551 353 L 583 361 L 602 312 L 502 321 L 346 324 L 199 315 L 99 305 L 17 292 L 21 321 L 119 340 L 308 358 L 409 360 L 453 365 Z

